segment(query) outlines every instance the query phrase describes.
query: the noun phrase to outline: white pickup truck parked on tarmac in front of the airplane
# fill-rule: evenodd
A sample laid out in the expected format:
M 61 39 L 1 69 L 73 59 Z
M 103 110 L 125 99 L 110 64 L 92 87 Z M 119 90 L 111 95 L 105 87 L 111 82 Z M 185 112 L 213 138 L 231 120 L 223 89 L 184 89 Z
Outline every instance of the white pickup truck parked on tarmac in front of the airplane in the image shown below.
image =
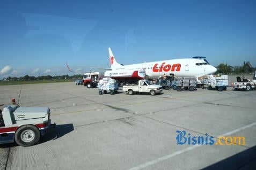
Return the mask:
M 151 84 L 149 80 L 139 80 L 138 85 L 123 86 L 123 91 L 129 95 L 133 95 L 134 92 L 149 92 L 150 95 L 155 96 L 162 90 L 162 86 Z

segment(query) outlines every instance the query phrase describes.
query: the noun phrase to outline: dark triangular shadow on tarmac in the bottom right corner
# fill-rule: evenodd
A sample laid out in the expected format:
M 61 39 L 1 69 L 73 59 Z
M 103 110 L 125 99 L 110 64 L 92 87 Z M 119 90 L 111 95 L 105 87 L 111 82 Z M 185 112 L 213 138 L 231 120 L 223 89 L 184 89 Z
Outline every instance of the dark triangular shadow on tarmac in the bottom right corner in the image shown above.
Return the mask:
M 203 169 L 254 169 L 255 167 L 256 146 L 253 146 Z

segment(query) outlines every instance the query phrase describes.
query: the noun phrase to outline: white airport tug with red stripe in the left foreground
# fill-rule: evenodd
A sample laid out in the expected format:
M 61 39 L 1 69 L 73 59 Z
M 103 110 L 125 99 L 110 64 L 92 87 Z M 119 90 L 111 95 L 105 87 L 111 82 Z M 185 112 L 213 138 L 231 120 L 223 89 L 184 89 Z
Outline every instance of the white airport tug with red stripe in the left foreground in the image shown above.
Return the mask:
M 0 111 L 0 144 L 16 142 L 20 146 L 32 146 L 55 127 L 50 123 L 48 107 L 19 107 L 15 99 L 12 103 Z

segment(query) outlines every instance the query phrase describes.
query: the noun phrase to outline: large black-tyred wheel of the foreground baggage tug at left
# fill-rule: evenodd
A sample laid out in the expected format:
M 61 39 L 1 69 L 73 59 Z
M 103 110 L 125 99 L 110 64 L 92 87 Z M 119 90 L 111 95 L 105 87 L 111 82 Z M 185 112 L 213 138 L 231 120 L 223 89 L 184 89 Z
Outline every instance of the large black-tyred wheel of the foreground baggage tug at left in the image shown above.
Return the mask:
M 38 143 L 39 139 L 39 129 L 34 125 L 21 126 L 14 135 L 15 142 L 23 147 L 32 146 Z

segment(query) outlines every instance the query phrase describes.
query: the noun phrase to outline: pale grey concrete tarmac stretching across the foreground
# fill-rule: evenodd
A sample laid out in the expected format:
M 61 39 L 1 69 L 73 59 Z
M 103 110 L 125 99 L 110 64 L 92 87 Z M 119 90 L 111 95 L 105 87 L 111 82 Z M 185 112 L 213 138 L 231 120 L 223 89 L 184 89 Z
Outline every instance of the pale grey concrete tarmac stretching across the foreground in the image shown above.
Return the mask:
M 68 82 L 0 86 L 0 94 L 0 104 L 49 107 L 56 123 L 34 146 L 0 145 L 0 169 L 256 167 L 256 90 L 98 95 Z M 177 144 L 177 130 L 215 143 Z M 245 145 L 216 145 L 221 136 L 245 137 Z

